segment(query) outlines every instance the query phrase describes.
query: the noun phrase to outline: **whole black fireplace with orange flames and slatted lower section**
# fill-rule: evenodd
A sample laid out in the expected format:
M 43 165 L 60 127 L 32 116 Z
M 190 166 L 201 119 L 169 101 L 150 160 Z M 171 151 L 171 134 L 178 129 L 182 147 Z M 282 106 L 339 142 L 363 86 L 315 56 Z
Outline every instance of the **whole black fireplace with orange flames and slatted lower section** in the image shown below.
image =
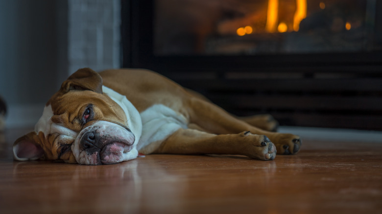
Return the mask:
M 382 130 L 380 1 L 121 2 L 124 67 L 155 70 L 237 115 Z

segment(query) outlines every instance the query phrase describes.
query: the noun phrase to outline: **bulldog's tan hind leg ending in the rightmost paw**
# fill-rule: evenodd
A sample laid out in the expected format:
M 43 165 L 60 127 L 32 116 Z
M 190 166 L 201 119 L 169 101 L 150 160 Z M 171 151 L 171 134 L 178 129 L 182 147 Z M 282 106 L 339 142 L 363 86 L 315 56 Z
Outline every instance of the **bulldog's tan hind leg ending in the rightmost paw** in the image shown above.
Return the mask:
M 301 148 L 301 139 L 297 135 L 269 132 L 239 120 L 222 108 L 201 99 L 190 99 L 190 122 L 207 132 L 215 134 L 233 134 L 250 131 L 263 134 L 275 144 L 278 154 L 294 154 Z

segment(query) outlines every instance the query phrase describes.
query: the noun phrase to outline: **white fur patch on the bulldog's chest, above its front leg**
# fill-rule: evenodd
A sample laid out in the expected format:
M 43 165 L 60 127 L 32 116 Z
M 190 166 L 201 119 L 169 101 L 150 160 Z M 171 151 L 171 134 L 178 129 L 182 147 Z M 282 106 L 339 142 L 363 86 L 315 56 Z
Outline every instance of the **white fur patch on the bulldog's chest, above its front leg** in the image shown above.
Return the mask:
M 142 136 L 137 149 L 151 153 L 169 135 L 179 128 L 187 128 L 188 120 L 181 114 L 161 104 L 154 105 L 141 112 Z M 150 145 L 155 144 L 155 145 Z

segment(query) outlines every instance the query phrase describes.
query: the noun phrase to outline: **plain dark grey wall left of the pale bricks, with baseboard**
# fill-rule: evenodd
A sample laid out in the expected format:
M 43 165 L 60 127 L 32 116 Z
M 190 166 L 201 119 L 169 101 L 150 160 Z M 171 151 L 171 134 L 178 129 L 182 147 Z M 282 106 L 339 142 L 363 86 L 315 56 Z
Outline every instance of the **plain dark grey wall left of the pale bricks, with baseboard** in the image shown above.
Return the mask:
M 0 94 L 8 106 L 7 127 L 30 126 L 57 90 L 66 68 L 65 1 L 0 0 Z M 60 19 L 64 18 L 64 21 Z M 60 23 L 61 25 L 58 25 Z M 63 41 L 63 43 L 62 43 Z

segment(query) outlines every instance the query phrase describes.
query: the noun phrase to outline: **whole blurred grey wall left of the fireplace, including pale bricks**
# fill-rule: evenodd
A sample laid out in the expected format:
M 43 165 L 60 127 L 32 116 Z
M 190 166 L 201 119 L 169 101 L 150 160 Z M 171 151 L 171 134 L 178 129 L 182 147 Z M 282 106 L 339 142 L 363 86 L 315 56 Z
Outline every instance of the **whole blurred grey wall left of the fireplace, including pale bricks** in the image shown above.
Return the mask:
M 119 67 L 119 0 L 0 0 L 0 95 L 7 128 L 33 127 L 81 67 Z

